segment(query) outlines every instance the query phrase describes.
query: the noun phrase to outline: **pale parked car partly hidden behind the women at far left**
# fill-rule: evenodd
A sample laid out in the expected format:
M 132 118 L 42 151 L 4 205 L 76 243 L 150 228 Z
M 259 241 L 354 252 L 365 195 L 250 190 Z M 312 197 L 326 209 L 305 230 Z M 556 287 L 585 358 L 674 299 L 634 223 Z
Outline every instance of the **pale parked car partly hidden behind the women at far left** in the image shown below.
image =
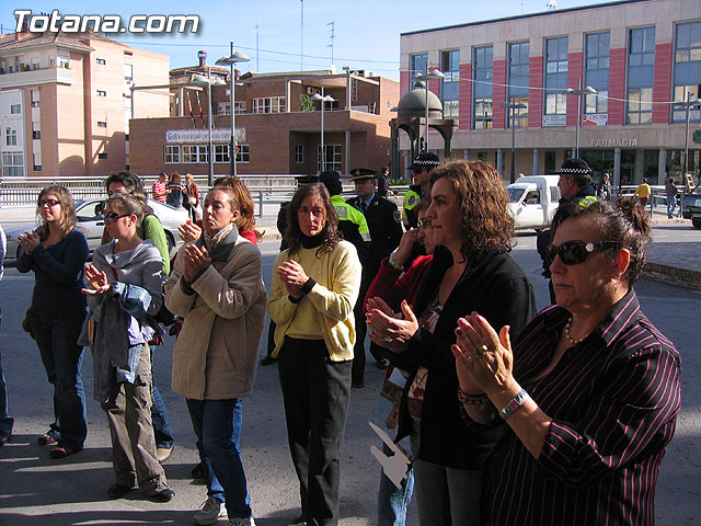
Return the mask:
M 82 230 L 88 239 L 88 247 L 92 252 L 100 247 L 102 241 L 102 231 L 105 228 L 105 221 L 102 217 L 102 205 L 105 199 L 94 197 L 91 199 L 80 201 L 76 204 L 76 216 L 78 218 L 78 227 Z M 168 245 L 173 255 L 173 251 L 177 245 L 179 236 L 177 228 L 186 222 L 188 219 L 187 210 L 184 208 L 173 208 L 164 203 L 158 201 L 148 201 L 148 206 L 151 207 L 153 214 L 161 220 L 163 229 L 165 230 L 165 237 L 168 238 Z M 36 224 L 21 225 L 19 227 L 12 227 L 5 230 L 8 236 L 7 258 L 16 258 L 20 245 L 18 243 L 18 236 L 31 231 L 36 228 Z

